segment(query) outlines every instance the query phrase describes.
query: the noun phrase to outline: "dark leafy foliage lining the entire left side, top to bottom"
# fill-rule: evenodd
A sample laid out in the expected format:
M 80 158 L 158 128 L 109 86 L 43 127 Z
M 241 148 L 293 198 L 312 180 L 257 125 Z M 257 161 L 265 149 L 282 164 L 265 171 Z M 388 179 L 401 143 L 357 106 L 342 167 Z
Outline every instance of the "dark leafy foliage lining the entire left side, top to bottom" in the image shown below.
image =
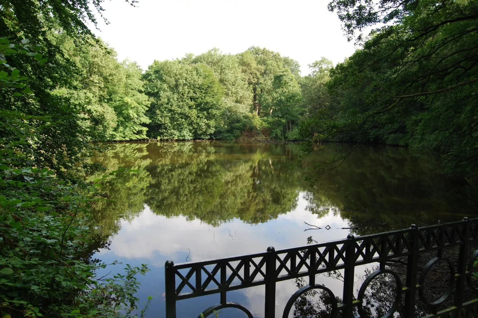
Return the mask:
M 81 108 L 56 92 L 73 87 L 77 69 L 48 32 L 61 25 L 82 40 L 89 4 L 2 1 L 0 10 L 0 313 L 133 317 L 135 275 L 148 269 L 96 276 L 105 264 L 91 255 L 105 237 L 89 228 L 88 206 L 109 176 L 78 182 L 98 167 L 85 161 L 93 135 Z

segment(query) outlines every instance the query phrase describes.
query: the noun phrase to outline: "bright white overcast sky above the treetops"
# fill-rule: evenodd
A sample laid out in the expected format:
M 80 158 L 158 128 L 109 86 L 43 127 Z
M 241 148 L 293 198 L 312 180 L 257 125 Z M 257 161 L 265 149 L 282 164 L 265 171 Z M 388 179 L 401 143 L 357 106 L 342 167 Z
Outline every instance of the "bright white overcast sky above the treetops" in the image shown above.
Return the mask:
M 154 60 L 195 55 L 213 47 L 239 53 L 252 45 L 289 56 L 308 74 L 307 64 L 322 56 L 334 64 L 354 53 L 328 0 L 122 0 L 105 1 L 95 34 L 108 42 L 119 60 L 129 58 L 147 69 Z M 101 20 L 101 19 L 98 19 Z

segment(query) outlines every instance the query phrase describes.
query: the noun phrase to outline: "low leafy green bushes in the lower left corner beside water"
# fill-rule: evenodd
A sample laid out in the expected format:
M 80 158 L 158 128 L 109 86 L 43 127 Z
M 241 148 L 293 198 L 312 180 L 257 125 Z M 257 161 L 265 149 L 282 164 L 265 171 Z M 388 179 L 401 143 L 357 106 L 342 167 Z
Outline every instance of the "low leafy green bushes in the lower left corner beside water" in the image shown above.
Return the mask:
M 88 226 L 88 191 L 59 181 L 43 168 L 0 167 L 0 309 L 11 317 L 123 317 L 137 309 L 135 275 L 99 279 L 106 264 L 91 260 L 91 246 L 104 241 Z M 112 306 L 114 305 L 114 306 Z

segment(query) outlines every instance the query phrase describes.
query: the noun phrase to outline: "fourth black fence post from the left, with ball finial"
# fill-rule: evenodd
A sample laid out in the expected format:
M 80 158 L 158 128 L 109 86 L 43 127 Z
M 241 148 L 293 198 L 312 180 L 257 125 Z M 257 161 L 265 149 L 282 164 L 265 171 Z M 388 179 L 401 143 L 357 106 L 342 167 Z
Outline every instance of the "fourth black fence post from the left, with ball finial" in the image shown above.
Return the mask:
M 407 278 L 406 286 L 408 287 L 405 293 L 405 317 L 413 317 L 415 313 L 415 295 L 417 285 L 417 266 L 418 266 L 418 226 L 412 224 L 410 226 L 412 231 L 410 232 L 409 244 L 410 252 L 407 258 Z

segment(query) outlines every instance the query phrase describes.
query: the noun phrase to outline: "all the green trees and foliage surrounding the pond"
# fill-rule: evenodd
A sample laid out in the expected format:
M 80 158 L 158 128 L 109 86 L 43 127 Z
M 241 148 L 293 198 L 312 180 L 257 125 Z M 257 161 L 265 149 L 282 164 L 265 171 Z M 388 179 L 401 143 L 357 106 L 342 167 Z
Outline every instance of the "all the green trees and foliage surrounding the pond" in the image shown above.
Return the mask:
M 147 267 L 104 280 L 95 269 L 105 265 L 91 259 L 106 237 L 90 226 L 90 205 L 104 201 L 98 188 L 110 175 L 125 172 L 88 179 L 105 170 L 89 160 L 99 141 L 294 140 L 305 153 L 323 141 L 376 142 L 439 151 L 450 174 L 478 182 L 478 1 L 332 0 L 359 49 L 337 65 L 318 56 L 306 76 L 261 47 L 213 48 L 141 70 L 88 29 L 101 3 L 0 0 L 3 318 L 144 314 L 135 275 Z M 322 175 L 349 154 L 310 172 Z

